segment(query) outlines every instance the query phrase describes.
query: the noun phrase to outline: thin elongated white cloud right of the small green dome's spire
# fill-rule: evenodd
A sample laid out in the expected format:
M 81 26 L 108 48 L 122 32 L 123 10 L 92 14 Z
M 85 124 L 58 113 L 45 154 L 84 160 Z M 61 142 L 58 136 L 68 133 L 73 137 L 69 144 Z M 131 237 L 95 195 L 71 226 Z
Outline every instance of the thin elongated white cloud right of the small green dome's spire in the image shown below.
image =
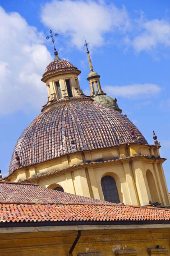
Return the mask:
M 124 86 L 104 86 L 104 92 L 113 97 L 136 99 L 143 96 L 151 97 L 158 94 L 161 88 L 157 84 L 131 84 Z

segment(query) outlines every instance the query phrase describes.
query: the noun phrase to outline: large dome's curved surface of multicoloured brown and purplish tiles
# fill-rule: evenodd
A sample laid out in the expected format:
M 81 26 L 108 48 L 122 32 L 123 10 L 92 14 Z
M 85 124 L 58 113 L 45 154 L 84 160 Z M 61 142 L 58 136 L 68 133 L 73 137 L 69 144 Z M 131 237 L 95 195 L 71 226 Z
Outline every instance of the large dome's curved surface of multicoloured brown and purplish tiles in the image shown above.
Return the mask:
M 131 140 L 131 129 L 140 143 L 148 144 L 118 111 L 87 98 L 67 99 L 46 108 L 28 125 L 14 148 L 9 173 L 16 169 L 15 151 L 21 166 L 28 166 L 75 151 L 126 143 Z

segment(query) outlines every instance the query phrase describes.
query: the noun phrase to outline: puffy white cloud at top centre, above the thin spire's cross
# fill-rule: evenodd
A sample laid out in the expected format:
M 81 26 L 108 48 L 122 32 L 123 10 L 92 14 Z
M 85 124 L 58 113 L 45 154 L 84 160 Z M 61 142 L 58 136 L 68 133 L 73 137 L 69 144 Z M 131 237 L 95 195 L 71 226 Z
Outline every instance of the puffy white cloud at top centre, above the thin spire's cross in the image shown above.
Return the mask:
M 101 46 L 104 33 L 130 28 L 125 7 L 119 9 L 104 1 L 54 0 L 43 6 L 41 20 L 48 28 L 70 36 L 72 44 L 78 48 L 84 44 L 84 36 L 90 46 Z

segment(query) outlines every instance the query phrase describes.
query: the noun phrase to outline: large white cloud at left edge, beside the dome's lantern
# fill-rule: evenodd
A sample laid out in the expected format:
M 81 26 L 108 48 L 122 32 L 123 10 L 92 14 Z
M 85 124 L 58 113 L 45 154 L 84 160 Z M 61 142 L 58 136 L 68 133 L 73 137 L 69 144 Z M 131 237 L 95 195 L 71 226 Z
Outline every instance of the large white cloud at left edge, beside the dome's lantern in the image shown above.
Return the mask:
M 19 13 L 0 7 L 0 113 L 28 106 L 41 108 L 47 100 L 41 77 L 51 61 L 43 35 Z

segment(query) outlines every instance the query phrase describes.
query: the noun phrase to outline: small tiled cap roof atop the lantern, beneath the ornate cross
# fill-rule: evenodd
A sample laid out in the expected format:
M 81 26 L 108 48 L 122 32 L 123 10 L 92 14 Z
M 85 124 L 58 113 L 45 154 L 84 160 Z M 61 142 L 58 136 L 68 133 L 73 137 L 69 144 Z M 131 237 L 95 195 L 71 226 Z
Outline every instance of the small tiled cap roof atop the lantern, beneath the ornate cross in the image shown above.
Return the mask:
M 43 76 L 47 75 L 49 72 L 61 71 L 61 70 L 78 70 L 72 63 L 68 60 L 54 60 L 45 69 Z

